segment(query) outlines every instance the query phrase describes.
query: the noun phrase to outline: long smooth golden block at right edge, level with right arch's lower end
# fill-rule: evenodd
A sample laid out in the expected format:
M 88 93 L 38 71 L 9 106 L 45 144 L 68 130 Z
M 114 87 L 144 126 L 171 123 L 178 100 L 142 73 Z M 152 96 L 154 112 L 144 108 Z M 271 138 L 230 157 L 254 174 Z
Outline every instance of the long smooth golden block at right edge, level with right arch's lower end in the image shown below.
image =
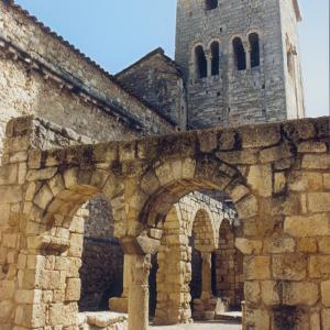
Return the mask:
M 284 231 L 299 238 L 329 235 L 329 217 L 327 213 L 286 217 Z

